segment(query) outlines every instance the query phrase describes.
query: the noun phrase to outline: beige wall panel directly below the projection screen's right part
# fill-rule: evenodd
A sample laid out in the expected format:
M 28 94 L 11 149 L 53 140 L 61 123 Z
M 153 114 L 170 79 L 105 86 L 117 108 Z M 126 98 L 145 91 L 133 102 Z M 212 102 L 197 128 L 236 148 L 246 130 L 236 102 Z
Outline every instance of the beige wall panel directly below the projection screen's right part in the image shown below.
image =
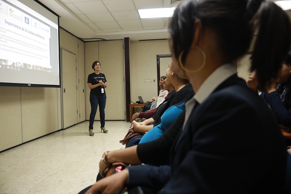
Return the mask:
M 21 88 L 23 142 L 59 129 L 57 88 Z

